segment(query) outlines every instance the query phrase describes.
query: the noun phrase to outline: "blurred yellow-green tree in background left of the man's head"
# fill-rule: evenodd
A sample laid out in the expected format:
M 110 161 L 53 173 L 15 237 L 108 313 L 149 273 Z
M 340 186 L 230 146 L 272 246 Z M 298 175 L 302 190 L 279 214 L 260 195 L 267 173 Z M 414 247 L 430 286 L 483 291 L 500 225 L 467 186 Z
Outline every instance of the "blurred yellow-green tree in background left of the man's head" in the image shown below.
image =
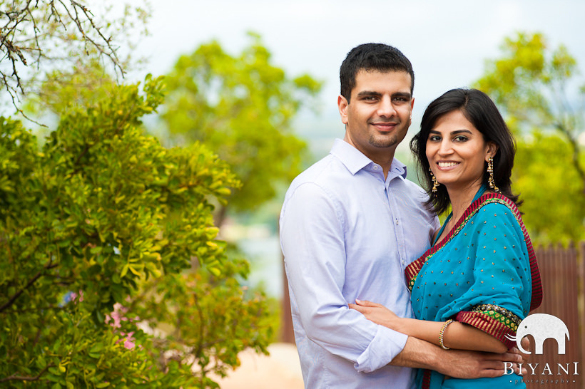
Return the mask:
M 260 37 L 250 38 L 238 56 L 216 41 L 181 56 L 166 78 L 162 114 L 175 142 L 202 142 L 232 167 L 242 182 L 229 200 L 235 211 L 255 209 L 300 172 L 305 142 L 292 134 L 292 119 L 303 105 L 314 108 L 321 88 L 306 74 L 289 78 Z

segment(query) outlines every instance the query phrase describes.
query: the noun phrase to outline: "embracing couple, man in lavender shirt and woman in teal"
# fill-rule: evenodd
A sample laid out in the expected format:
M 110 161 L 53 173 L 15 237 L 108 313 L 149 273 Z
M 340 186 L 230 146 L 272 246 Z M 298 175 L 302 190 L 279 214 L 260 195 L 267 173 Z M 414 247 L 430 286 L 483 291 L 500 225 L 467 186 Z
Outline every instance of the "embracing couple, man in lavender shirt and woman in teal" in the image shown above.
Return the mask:
M 340 81 L 345 137 L 280 214 L 305 387 L 525 387 L 504 363 L 522 362 L 509 338 L 542 289 L 502 115 L 479 90 L 430 103 L 410 142 L 422 190 L 394 157 L 412 120 L 409 60 L 360 45 Z

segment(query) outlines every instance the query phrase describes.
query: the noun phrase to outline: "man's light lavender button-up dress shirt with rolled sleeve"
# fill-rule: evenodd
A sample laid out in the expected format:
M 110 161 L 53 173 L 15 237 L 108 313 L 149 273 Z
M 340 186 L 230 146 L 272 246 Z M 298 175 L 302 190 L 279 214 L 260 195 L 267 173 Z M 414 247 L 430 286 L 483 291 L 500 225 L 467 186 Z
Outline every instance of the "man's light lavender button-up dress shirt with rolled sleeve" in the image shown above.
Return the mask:
M 405 267 L 439 222 L 424 191 L 392 162 L 387 179 L 343 140 L 293 180 L 280 213 L 292 323 L 305 388 L 411 388 L 414 370 L 388 365 L 407 336 L 347 307 L 355 299 L 413 317 Z

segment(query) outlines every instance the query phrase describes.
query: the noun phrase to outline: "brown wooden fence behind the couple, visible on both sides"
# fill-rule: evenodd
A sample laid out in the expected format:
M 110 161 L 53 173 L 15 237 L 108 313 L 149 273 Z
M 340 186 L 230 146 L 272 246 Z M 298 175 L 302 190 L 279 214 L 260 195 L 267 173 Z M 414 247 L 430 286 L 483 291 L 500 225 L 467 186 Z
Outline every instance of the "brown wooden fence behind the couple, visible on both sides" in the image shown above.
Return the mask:
M 548 339 L 544 342 L 543 354 L 531 356 L 529 363 L 534 367 L 534 374 L 529 367 L 524 377 L 527 388 L 585 388 L 585 242 L 581 242 L 580 247 L 571 245 L 568 248 L 558 246 L 536 249 L 536 259 L 544 297 L 541 306 L 531 313 L 547 313 L 560 318 L 569 328 L 570 339 L 566 343 L 564 355 L 558 355 L 556 341 Z M 283 277 L 280 338 L 283 342 L 295 343 L 284 271 Z M 531 349 L 534 350 L 534 343 Z

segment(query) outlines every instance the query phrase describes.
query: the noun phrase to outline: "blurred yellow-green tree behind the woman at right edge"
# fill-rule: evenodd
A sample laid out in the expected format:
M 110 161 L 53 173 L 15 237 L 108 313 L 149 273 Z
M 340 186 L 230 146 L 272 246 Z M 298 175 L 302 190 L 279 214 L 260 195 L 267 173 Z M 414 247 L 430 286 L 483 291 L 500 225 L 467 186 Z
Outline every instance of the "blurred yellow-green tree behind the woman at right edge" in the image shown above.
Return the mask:
M 506 38 L 475 87 L 498 105 L 517 138 L 514 190 L 531 237 L 585 238 L 585 84 L 565 46 L 540 33 Z

